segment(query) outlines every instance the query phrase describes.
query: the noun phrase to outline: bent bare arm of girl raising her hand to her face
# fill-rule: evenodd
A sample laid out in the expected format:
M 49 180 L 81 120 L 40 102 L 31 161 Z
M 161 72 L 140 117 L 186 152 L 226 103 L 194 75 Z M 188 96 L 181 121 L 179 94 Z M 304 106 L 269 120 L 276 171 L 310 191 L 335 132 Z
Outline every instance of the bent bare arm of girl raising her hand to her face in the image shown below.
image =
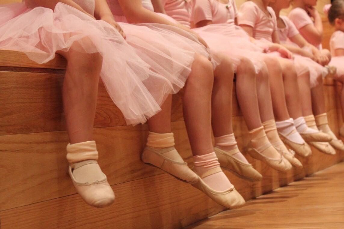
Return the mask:
M 301 35 L 314 46 L 318 46 L 322 42 L 323 25 L 319 12 L 314 7 L 307 7 L 307 11 L 314 19 L 314 24 L 308 24 L 299 28 Z

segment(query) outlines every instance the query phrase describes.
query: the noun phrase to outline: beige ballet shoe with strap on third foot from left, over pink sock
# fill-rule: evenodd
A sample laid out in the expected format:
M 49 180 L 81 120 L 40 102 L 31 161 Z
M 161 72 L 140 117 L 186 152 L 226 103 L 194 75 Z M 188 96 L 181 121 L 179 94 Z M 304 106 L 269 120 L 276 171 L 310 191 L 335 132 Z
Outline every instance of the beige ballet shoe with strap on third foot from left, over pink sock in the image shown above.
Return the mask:
M 211 170 L 206 171 L 204 174 L 200 174 L 198 181 L 193 183 L 192 186 L 205 193 L 217 204 L 225 206 L 227 208 L 233 209 L 241 207 L 245 204 L 245 199 L 235 190 L 234 186 L 228 188 L 225 191 L 216 191 L 209 187 L 202 178 L 212 175 L 217 172 L 221 172 L 221 168 L 217 167 Z

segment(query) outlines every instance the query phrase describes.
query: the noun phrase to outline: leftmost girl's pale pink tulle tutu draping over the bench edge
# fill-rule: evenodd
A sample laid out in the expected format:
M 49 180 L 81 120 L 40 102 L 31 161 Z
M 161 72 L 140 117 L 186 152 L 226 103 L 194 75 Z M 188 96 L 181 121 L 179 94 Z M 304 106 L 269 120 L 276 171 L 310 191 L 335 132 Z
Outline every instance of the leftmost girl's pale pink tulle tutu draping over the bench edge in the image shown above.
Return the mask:
M 63 3 L 58 3 L 54 11 L 43 7 L 28 9 L 24 3 L 4 5 L 0 15 L 0 49 L 22 51 L 39 64 L 53 59 L 56 51 L 75 48 L 75 42 L 80 44 L 77 51 L 100 53 L 101 79 L 128 124 L 144 123 L 161 110 L 166 96 L 183 87 L 195 54 L 190 49 L 181 51 L 181 47 L 177 56 L 176 51 L 162 47 L 163 41 L 156 41 L 162 36 L 153 39 L 155 34 L 147 34 L 150 46 L 142 53 L 155 55 L 150 56 L 151 62 L 144 62 L 137 49 L 128 45 L 110 24 Z M 147 42 L 128 34 L 128 41 L 137 46 Z M 160 46 L 154 47 L 156 43 Z M 152 62 L 160 63 L 160 68 L 156 64 L 152 69 Z

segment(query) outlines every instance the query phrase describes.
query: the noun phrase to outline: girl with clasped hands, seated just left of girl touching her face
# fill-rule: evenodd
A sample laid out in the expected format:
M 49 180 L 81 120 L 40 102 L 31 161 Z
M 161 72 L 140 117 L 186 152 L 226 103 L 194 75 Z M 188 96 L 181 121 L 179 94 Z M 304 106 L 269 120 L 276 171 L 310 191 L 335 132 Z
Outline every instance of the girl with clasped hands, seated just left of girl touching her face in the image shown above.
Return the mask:
M 288 1 L 276 0 L 273 3 L 270 3 L 270 6 L 275 11 L 277 16 L 280 41 L 284 43 L 286 47 L 288 47 L 288 49 L 298 54 L 295 55 L 295 61 L 298 61 L 303 65 L 307 65 L 310 69 L 310 87 L 303 86 L 307 83 L 309 84 L 309 80 L 307 78 L 298 78 L 299 86 L 300 88 L 302 87 L 302 90 L 300 90 L 301 96 L 303 98 L 302 113 L 305 120 L 307 121 L 307 124 L 315 130 L 318 130 L 318 128 L 315 125 L 312 107 L 310 106 L 310 104 L 312 103 L 311 101 L 313 101 L 312 106 L 315 115 L 321 115 L 326 112 L 323 96 L 322 77 L 324 76 L 324 73 L 327 73 L 327 70 L 323 68 L 321 65 L 312 61 L 310 58 L 317 60 L 319 63 L 323 65 L 328 64 L 328 58 L 327 56 L 323 55 L 319 51 L 319 49 L 305 41 L 305 39 L 299 34 L 294 24 L 286 16 L 279 16 L 281 9 L 289 7 Z M 310 88 L 312 89 L 309 90 Z M 344 149 L 343 143 L 341 141 L 334 139 L 332 140 L 332 142 L 334 142 L 334 146 L 336 146 L 335 148 L 340 150 Z M 319 149 L 320 151 L 323 151 L 324 146 L 328 147 L 327 143 L 309 143 L 313 145 L 315 148 Z

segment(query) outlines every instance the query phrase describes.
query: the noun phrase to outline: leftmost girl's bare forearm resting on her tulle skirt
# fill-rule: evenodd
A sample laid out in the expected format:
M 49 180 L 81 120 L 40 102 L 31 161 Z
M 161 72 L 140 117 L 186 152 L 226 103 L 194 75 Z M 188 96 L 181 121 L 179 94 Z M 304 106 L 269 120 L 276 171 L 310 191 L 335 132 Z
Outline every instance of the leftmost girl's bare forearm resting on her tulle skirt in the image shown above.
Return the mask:
M 106 0 L 95 0 L 94 16 L 96 19 L 106 21 L 110 25 L 114 26 L 123 38 L 126 38 L 121 26 L 119 26 L 115 21 L 114 15 L 112 15 Z

